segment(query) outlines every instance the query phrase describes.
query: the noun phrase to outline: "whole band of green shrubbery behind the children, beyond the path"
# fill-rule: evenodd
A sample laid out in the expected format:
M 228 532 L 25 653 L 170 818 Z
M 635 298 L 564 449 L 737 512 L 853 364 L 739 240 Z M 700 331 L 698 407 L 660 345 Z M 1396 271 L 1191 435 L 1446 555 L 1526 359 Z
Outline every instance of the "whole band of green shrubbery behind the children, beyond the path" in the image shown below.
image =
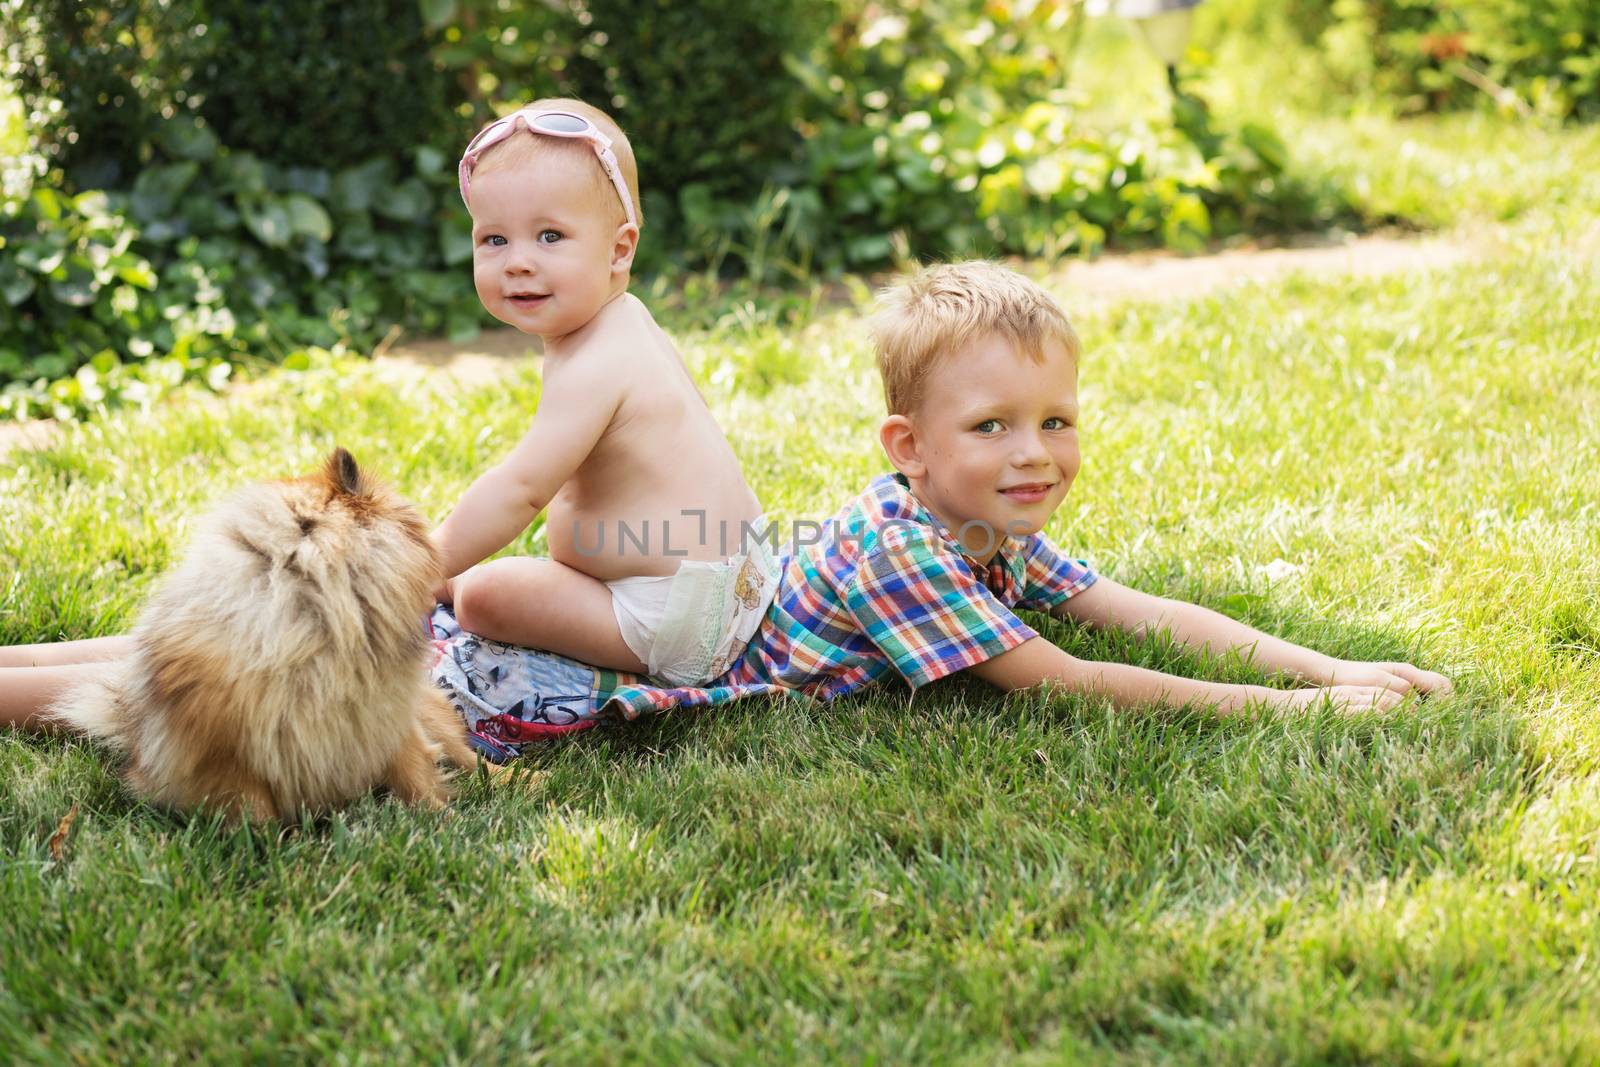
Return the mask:
M 1350 218 L 1338 190 L 1291 176 L 1270 130 L 1190 96 L 1163 122 L 1088 123 L 1069 86 L 1080 13 L 0 0 L 54 168 L 0 197 L 6 405 L 114 400 L 139 387 L 139 360 L 165 381 L 392 328 L 469 334 L 486 318 L 453 163 L 478 122 L 536 96 L 590 99 L 629 130 L 643 274 L 802 283 L 910 256 L 1198 248 Z

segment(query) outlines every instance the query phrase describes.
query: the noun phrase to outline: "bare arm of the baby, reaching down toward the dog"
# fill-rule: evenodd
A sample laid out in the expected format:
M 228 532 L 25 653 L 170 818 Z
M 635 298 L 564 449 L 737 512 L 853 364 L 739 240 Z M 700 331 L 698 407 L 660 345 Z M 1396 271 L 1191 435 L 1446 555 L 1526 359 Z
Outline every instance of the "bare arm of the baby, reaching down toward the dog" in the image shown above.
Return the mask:
M 434 531 L 446 579 L 510 544 L 594 451 L 622 403 L 626 379 L 610 363 L 595 358 L 546 373 L 528 432 Z

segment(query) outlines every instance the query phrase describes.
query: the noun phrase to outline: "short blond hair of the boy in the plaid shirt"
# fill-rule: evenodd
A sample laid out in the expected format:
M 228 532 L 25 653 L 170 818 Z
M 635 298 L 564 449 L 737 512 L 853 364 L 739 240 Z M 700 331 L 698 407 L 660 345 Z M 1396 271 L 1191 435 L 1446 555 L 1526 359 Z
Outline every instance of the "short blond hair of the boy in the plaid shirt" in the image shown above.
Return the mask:
M 1061 306 L 1038 285 L 1000 264 L 973 259 L 925 267 L 878 293 L 872 315 L 883 400 L 890 414 L 910 414 L 923 382 L 941 360 L 990 334 L 1010 339 L 1038 362 L 1059 341 L 1078 358 L 1078 334 Z

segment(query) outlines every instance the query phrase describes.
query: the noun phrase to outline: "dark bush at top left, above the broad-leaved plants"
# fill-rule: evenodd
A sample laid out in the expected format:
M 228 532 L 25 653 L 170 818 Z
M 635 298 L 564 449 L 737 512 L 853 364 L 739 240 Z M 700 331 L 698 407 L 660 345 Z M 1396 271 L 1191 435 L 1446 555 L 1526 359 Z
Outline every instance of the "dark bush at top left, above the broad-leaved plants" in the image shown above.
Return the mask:
M 0 0 L 5 77 L 69 189 L 118 189 L 166 118 L 288 165 L 453 146 L 461 86 L 416 0 Z

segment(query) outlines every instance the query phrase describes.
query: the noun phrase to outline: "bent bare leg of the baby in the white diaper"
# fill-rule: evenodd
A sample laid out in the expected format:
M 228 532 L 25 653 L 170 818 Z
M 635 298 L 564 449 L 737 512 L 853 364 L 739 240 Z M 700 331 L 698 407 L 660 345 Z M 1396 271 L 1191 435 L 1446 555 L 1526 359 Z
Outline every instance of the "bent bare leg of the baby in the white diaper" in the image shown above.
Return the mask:
M 542 648 L 613 670 L 645 672 L 622 640 L 605 582 L 555 560 L 507 557 L 451 582 L 456 622 L 493 641 Z

